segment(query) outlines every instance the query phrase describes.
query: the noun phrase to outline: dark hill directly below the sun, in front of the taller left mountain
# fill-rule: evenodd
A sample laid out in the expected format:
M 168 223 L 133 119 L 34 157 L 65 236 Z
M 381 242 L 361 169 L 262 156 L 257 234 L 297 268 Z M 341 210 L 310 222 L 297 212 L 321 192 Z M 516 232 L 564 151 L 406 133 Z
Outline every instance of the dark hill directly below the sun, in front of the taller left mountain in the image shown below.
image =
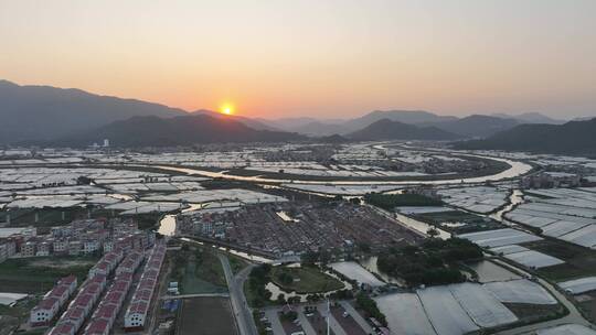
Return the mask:
M 86 147 L 109 139 L 114 147 L 173 147 L 206 143 L 286 142 L 306 137 L 280 131 L 255 130 L 242 122 L 192 115 L 173 118 L 132 117 L 98 129 L 45 142 L 46 145 Z

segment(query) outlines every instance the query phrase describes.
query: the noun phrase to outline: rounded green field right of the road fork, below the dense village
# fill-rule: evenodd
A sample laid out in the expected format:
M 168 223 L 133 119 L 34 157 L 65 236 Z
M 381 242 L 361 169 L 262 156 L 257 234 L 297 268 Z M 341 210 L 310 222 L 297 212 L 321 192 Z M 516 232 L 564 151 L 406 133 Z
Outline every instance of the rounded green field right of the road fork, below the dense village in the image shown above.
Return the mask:
M 311 267 L 274 267 L 272 281 L 287 292 L 319 293 L 343 289 L 341 281 Z

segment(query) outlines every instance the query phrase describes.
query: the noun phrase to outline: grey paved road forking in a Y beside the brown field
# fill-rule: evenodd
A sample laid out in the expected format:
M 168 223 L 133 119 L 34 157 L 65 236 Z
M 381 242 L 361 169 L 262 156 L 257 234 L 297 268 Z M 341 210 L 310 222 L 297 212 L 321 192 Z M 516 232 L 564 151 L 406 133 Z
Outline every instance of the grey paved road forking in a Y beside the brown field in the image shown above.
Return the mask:
M 243 269 L 236 277 L 234 277 L 227 257 L 222 253 L 217 253 L 217 257 L 220 258 L 224 269 L 225 281 L 227 282 L 227 289 L 230 291 L 230 301 L 232 302 L 232 310 L 234 311 L 240 334 L 257 335 L 258 333 L 253 320 L 253 313 L 246 303 L 243 289 L 244 282 L 248 278 L 252 267 Z

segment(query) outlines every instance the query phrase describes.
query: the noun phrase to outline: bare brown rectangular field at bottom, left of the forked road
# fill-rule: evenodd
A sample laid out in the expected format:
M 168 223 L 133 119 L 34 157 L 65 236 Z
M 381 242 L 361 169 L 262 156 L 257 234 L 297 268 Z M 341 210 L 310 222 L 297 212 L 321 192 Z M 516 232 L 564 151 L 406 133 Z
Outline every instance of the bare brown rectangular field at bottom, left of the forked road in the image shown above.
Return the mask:
M 230 301 L 224 298 L 184 299 L 179 322 L 179 334 L 237 334 Z

